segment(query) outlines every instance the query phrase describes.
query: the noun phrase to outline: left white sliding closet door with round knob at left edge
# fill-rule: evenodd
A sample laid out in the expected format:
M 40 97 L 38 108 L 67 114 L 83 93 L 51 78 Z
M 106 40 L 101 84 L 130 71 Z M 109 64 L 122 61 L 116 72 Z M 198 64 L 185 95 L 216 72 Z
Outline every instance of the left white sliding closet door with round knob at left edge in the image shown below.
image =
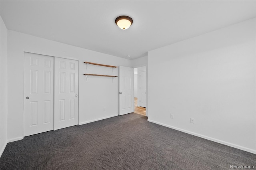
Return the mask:
M 53 130 L 54 57 L 24 53 L 24 136 Z

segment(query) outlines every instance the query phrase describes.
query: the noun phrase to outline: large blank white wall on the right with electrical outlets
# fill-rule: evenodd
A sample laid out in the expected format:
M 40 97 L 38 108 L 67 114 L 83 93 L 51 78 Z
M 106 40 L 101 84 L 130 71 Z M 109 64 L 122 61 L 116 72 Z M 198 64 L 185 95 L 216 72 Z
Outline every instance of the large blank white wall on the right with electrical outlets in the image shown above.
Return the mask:
M 149 121 L 256 153 L 255 30 L 254 18 L 149 51 Z

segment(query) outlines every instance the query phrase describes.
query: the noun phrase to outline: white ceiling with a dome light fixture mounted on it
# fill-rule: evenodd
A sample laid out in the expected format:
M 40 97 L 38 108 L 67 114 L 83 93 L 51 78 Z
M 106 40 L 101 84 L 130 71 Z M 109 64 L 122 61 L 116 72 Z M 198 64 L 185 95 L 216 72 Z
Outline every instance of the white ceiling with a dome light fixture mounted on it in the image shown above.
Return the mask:
M 133 19 L 128 30 L 118 16 Z M 135 59 L 147 51 L 256 17 L 255 0 L 1 0 L 9 30 Z

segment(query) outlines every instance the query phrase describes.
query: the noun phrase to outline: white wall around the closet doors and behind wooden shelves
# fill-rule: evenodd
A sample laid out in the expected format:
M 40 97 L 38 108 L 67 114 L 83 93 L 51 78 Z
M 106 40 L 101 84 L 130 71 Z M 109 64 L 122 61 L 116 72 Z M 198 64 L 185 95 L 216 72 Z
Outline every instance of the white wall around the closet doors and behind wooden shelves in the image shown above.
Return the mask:
M 89 76 L 84 73 L 118 75 L 118 68 L 88 65 L 84 61 L 131 67 L 131 61 L 35 36 L 8 31 L 8 141 L 23 138 L 23 53 L 32 52 L 79 60 L 79 124 L 118 115 L 118 77 Z M 104 108 L 105 111 L 104 111 Z

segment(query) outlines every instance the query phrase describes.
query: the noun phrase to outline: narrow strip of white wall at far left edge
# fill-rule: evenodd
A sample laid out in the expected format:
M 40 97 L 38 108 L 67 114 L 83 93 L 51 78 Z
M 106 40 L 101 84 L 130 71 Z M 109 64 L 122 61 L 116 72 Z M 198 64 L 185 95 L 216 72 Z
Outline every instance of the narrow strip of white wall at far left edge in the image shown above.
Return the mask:
M 7 144 L 7 29 L 0 20 L 0 156 Z

